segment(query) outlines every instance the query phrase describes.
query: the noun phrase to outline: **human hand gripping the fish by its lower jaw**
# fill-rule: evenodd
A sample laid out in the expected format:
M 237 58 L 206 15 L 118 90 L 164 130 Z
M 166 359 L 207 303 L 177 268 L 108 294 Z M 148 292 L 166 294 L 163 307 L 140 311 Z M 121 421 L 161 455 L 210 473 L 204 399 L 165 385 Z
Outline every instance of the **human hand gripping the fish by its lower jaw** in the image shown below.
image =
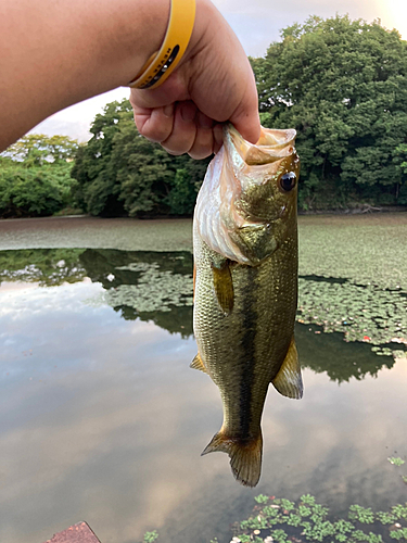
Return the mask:
M 155 89 L 131 89 L 130 102 L 139 132 L 171 154 L 216 153 L 226 121 L 252 143 L 260 134 L 251 65 L 209 0 L 196 0 L 191 40 L 174 73 Z

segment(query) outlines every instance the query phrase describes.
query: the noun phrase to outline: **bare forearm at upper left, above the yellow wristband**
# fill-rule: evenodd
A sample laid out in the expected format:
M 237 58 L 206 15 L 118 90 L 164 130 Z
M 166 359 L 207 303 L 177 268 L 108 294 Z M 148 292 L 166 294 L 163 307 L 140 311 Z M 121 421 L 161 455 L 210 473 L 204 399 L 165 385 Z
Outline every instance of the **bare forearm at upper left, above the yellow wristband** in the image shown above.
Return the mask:
M 169 0 L 3 0 L 0 150 L 63 108 L 126 85 L 156 51 Z

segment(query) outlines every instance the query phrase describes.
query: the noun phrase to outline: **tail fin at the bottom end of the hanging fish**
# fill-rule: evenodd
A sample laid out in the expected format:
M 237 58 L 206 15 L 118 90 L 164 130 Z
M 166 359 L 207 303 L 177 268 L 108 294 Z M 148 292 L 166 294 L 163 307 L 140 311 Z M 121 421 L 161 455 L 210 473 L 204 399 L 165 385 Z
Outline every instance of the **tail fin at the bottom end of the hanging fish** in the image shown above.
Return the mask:
M 262 430 L 259 430 L 257 438 L 245 443 L 230 439 L 220 431 L 213 437 L 201 456 L 216 451 L 229 455 L 232 473 L 241 484 L 244 487 L 255 487 L 257 484 L 262 472 Z

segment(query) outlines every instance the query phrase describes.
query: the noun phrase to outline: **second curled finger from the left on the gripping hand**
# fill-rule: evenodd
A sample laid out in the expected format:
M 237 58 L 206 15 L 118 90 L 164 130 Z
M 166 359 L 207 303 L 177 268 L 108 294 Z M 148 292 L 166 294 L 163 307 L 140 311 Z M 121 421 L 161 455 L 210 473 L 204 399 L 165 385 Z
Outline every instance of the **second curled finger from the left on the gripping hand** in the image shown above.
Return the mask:
M 181 102 L 175 109 L 170 136 L 161 142 L 170 154 L 183 154 L 192 148 L 196 137 L 196 106 L 193 102 Z

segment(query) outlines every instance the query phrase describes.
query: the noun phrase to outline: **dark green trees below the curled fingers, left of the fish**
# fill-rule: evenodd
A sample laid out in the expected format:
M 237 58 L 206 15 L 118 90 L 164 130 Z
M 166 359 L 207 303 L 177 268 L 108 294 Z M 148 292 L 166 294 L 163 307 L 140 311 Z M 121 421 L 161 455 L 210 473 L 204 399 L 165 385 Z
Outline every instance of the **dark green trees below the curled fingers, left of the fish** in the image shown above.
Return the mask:
M 171 156 L 141 137 L 128 100 L 97 115 L 78 149 L 72 176 L 75 203 L 92 215 L 191 215 L 208 161 Z

